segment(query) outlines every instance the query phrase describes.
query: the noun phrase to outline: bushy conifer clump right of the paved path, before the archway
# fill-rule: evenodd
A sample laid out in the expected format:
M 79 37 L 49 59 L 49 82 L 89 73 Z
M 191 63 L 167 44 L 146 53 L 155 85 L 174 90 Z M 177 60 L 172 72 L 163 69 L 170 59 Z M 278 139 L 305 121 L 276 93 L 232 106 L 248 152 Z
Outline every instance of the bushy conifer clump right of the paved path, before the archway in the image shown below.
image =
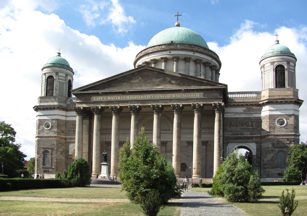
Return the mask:
M 225 197 L 228 202 L 254 202 L 264 191 L 258 172 L 253 172 L 245 157 L 235 150 L 216 172 L 210 193 Z

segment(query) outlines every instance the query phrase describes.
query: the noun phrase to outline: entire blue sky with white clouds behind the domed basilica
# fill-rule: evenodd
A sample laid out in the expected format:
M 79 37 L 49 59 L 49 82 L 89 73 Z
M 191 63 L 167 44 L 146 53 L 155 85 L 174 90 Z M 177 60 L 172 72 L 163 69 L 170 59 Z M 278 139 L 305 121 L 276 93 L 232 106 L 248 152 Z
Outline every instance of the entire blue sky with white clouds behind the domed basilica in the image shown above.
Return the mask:
M 261 90 L 259 59 L 278 33 L 280 43 L 297 56 L 297 89 L 306 100 L 306 5 L 304 0 L 2 0 L 0 120 L 12 124 L 21 150 L 33 157 L 41 67 L 56 48 L 62 47 L 78 88 L 132 69 L 149 40 L 174 26 L 177 11 L 181 26 L 199 33 L 220 56 L 220 81 L 229 91 Z M 301 141 L 307 140 L 305 107 L 300 108 Z

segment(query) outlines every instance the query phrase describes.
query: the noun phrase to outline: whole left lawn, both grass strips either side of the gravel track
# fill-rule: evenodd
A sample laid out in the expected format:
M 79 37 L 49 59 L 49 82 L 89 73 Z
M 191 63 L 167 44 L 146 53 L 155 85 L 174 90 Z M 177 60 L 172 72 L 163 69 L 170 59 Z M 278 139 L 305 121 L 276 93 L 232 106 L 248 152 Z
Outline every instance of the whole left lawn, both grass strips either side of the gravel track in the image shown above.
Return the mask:
M 126 201 L 120 188 L 54 188 L 0 192 L 0 196 L 49 198 L 110 198 L 118 202 L 42 202 L 0 200 L 0 215 L 144 215 L 141 207 Z M 124 199 L 121 200 L 120 199 Z M 180 215 L 180 203 L 165 206 L 158 215 Z

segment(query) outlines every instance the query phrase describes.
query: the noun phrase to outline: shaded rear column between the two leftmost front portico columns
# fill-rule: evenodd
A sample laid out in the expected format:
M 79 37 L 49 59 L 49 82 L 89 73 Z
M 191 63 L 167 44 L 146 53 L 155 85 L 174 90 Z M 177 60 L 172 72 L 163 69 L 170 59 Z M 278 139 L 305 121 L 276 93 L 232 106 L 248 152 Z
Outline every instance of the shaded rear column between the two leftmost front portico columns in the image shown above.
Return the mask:
M 87 110 L 83 114 L 83 150 L 82 157 L 91 164 L 91 132 L 92 132 L 92 112 Z

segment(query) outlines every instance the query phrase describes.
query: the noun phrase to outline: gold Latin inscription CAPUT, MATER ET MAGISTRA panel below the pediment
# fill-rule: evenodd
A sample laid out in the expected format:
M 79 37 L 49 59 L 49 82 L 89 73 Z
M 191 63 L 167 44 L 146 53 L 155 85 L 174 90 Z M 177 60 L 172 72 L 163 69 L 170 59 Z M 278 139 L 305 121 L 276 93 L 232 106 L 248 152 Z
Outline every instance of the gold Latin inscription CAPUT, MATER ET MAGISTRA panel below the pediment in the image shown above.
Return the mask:
M 200 93 L 190 94 L 152 94 L 152 95 L 119 95 L 119 96 L 100 96 L 92 97 L 93 101 L 103 100 L 142 100 L 142 99 L 172 99 L 172 98 L 197 98 L 200 97 Z

